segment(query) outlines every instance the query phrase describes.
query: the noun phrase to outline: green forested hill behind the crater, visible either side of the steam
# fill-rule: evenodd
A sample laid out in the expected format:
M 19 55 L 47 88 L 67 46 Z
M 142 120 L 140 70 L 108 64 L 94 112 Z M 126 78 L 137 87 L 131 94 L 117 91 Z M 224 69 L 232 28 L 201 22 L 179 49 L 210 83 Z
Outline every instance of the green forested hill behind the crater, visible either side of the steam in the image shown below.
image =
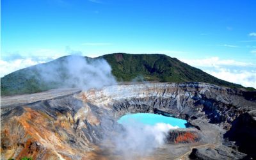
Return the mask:
M 57 60 L 35 65 L 33 67 L 17 70 L 1 78 L 1 94 L 15 95 L 23 93 L 35 93 L 60 88 L 61 83 L 47 83 L 40 77 L 38 67 L 58 66 L 58 76 L 65 79 L 67 76 L 64 64 L 68 56 Z M 191 67 L 164 54 L 106 54 L 98 58 L 84 57 L 89 61 L 104 58 L 112 68 L 112 74 L 118 81 L 160 81 L 160 82 L 204 82 L 227 86 L 230 88 L 244 88 L 240 84 L 223 81 L 211 76 L 204 71 Z M 74 64 L 76 65 L 76 64 Z M 31 76 L 32 75 L 32 76 Z M 254 88 L 244 88 L 255 90 Z

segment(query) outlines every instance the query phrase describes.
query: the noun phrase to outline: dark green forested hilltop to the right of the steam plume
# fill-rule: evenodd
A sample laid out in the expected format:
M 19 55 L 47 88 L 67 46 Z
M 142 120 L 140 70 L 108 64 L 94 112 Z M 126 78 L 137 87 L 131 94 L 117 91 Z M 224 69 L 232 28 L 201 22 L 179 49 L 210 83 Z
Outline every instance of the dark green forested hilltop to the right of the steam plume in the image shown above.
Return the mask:
M 132 81 L 137 76 L 143 76 L 145 81 L 204 82 L 230 88 L 244 88 L 240 84 L 223 81 L 164 54 L 118 53 L 106 54 L 100 58 L 108 61 L 118 81 Z

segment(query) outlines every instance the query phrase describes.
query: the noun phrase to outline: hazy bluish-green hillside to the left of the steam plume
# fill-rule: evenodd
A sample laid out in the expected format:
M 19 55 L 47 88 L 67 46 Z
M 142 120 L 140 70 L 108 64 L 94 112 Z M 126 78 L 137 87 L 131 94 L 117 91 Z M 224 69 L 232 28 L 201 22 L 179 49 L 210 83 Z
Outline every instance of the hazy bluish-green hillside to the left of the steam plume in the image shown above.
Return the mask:
M 36 93 L 52 88 L 58 88 L 61 84 L 45 81 L 45 79 L 41 77 L 40 71 L 42 68 L 47 68 L 54 64 L 60 67 L 60 75 L 61 77 L 64 77 L 65 70 L 63 68 L 63 63 L 65 63 L 65 58 L 66 57 L 62 57 L 49 63 L 17 70 L 4 76 L 1 78 L 1 95 Z

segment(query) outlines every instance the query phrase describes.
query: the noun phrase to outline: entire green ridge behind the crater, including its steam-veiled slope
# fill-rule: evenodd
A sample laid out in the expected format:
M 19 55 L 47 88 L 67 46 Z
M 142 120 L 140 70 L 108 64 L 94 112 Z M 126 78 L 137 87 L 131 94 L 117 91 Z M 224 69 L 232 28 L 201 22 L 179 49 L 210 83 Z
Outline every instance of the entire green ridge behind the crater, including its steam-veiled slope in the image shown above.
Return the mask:
M 74 58 L 75 57 L 75 58 Z M 74 59 L 74 60 L 72 60 Z M 164 54 L 126 54 L 114 53 L 106 54 L 97 58 L 83 56 L 63 56 L 48 63 L 42 63 L 28 68 L 23 68 L 1 78 L 1 95 L 16 95 L 24 93 L 43 92 L 54 88 L 77 86 L 76 79 L 65 83 L 65 79 L 72 77 L 74 67 L 79 67 L 80 61 L 86 61 L 83 65 L 95 63 L 92 67 L 100 68 L 99 60 L 106 60 L 111 67 L 111 74 L 118 82 L 149 81 L 149 82 L 170 82 L 186 83 L 201 82 L 211 83 L 218 86 L 227 86 L 234 89 L 253 91 L 252 87 L 244 87 L 223 81 L 204 71 L 191 67 L 177 58 L 171 58 Z M 108 66 L 101 67 L 101 70 Z M 84 70 L 88 68 L 84 67 Z M 108 70 L 104 70 L 107 72 Z M 72 72 L 72 73 L 70 73 Z M 103 73 L 101 73 L 103 74 Z M 79 76 L 83 76 L 81 73 Z M 80 78 L 76 75 L 76 78 Z M 91 78 L 91 76 L 90 76 Z M 99 79 L 99 77 L 95 77 Z M 106 81 L 105 77 L 105 81 Z M 91 79 L 92 80 L 92 79 Z M 87 81 L 84 78 L 83 81 Z M 104 79 L 102 79 L 104 82 Z M 83 84 L 84 87 L 87 84 Z M 99 84 L 97 85 L 99 86 Z

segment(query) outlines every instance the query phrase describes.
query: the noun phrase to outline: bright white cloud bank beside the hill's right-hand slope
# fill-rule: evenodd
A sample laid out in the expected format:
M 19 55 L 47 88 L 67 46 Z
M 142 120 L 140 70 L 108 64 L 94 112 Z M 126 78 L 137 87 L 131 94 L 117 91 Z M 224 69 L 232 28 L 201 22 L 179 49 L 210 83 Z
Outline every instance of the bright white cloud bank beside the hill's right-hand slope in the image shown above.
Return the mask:
M 221 60 L 218 57 L 182 61 L 219 79 L 256 88 L 256 65 L 253 63 Z

